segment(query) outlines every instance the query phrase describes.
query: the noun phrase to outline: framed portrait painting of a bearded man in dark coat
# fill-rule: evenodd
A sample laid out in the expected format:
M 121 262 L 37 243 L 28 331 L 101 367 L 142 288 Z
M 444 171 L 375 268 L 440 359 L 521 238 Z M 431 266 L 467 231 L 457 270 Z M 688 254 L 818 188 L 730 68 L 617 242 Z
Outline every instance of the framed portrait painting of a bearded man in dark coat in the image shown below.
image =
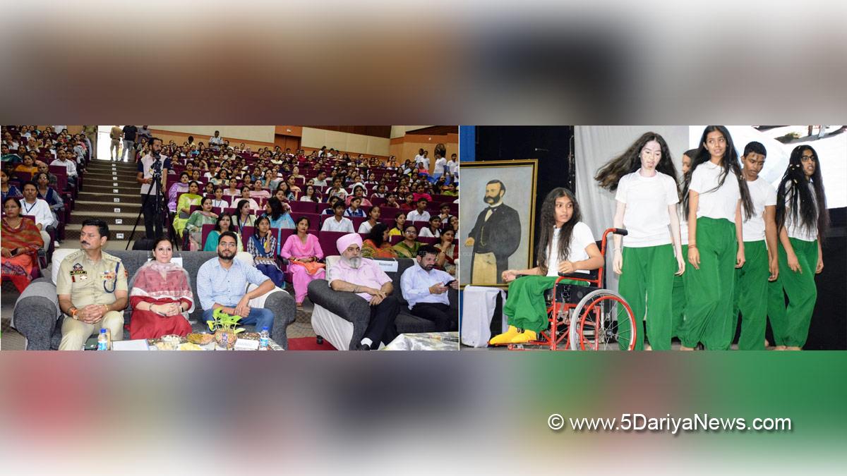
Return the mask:
M 502 272 L 531 268 L 538 161 L 462 163 L 459 282 L 506 288 Z

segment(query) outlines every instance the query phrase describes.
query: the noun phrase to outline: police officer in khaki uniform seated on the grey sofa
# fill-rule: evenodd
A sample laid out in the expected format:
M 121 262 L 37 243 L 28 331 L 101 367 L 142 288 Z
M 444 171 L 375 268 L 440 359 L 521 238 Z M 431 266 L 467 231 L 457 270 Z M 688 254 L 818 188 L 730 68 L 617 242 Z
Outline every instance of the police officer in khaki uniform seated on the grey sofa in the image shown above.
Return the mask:
M 124 338 L 128 273 L 119 258 L 102 252 L 108 237 L 106 222 L 86 219 L 80 232 L 82 249 L 59 265 L 56 291 L 64 313 L 60 351 L 79 351 L 100 329 L 109 329 L 112 340 Z

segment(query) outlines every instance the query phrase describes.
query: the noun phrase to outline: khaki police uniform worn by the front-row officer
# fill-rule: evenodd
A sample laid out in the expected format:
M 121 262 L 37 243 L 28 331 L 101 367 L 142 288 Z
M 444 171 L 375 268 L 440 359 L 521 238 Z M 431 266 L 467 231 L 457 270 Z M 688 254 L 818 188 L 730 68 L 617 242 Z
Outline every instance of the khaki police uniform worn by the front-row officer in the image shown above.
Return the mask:
M 112 304 L 115 291 L 127 291 L 127 271 L 120 258 L 102 252 L 99 261 L 91 261 L 86 252 L 80 250 L 64 258 L 58 268 L 56 292 L 69 294 L 71 304 L 82 310 L 89 304 Z M 79 351 L 91 335 L 100 329 L 109 329 L 112 340 L 124 338 L 124 313 L 109 311 L 94 324 L 64 316 L 60 351 Z

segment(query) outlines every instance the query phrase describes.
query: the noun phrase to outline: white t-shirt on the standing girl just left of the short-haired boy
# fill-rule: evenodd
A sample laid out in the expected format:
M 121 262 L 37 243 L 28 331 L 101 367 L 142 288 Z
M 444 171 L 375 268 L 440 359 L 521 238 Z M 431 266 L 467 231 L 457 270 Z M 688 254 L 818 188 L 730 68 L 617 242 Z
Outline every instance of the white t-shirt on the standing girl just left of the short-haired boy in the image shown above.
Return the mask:
M 728 219 L 735 223 L 735 208 L 741 199 L 738 179 L 730 172 L 723 185 L 717 190 L 718 177 L 723 167 L 711 162 L 700 163 L 691 174 L 689 190 L 700 194 L 697 202 L 697 218 Z

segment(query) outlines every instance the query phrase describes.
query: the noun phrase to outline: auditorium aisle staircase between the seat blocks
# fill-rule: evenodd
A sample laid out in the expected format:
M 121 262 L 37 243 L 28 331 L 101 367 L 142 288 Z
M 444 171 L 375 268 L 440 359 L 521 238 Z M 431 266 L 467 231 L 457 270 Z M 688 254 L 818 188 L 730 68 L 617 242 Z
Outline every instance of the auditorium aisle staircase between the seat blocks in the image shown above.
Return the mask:
M 60 248 L 80 247 L 80 229 L 86 219 L 104 219 L 111 231 L 107 250 L 123 250 L 141 211 L 141 185 L 136 182 L 136 163 L 92 160 L 85 175 L 84 189 L 65 226 Z M 135 237 L 144 236 L 144 217 L 138 220 Z M 132 243 L 130 242 L 130 249 Z

